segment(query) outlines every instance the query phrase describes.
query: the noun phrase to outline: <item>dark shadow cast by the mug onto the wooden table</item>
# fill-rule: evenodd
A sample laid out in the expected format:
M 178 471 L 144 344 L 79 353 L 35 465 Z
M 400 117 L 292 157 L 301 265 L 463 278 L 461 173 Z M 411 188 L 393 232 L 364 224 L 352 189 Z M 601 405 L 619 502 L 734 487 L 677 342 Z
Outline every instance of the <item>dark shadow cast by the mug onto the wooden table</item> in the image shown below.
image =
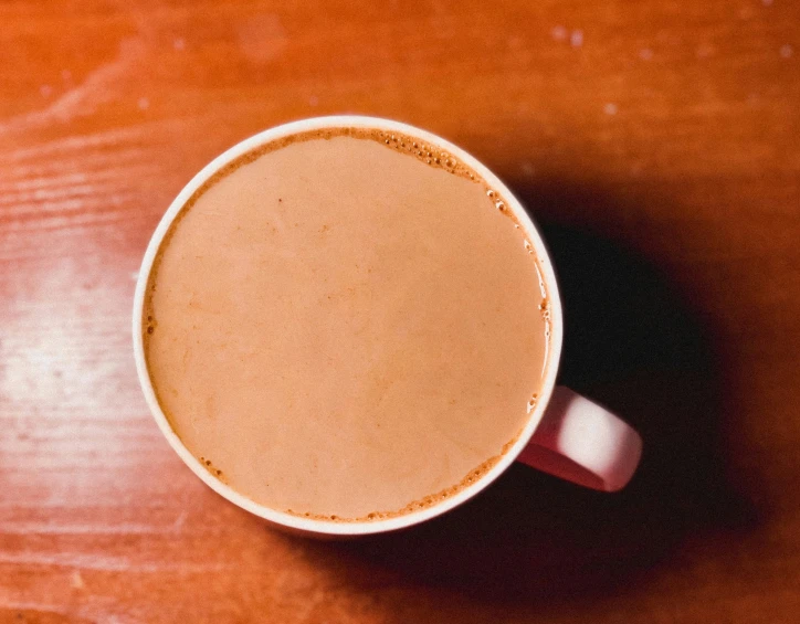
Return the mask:
M 535 214 L 565 201 L 527 194 Z M 357 584 L 385 572 L 493 601 L 587 600 L 623 583 L 633 591 L 688 537 L 755 521 L 726 479 L 706 332 L 641 258 L 590 233 L 539 224 L 564 300 L 559 383 L 642 434 L 633 480 L 609 495 L 513 465 L 473 500 L 413 529 L 306 544 L 318 564 Z

